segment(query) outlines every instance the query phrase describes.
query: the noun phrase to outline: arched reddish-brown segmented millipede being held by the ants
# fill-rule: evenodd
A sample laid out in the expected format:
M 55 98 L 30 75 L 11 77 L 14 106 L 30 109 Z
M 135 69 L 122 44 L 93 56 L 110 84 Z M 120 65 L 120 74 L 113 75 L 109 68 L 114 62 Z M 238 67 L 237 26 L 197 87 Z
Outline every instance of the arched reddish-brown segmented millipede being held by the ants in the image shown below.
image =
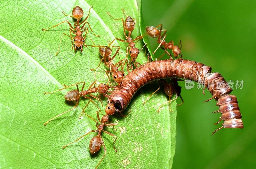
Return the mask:
M 120 112 L 129 105 L 137 90 L 148 82 L 174 77 L 184 78 L 205 85 L 213 96 L 211 99 L 218 100 L 219 110 L 216 112 L 221 113 L 224 123 L 213 134 L 223 127 L 243 128 L 236 96 L 229 95 L 232 89 L 220 73 L 211 73 L 211 70 L 211 67 L 202 63 L 180 58 L 148 62 L 125 76 L 122 88 L 108 95 L 108 103 L 114 104 L 116 112 Z M 221 85 L 218 85 L 220 82 Z

